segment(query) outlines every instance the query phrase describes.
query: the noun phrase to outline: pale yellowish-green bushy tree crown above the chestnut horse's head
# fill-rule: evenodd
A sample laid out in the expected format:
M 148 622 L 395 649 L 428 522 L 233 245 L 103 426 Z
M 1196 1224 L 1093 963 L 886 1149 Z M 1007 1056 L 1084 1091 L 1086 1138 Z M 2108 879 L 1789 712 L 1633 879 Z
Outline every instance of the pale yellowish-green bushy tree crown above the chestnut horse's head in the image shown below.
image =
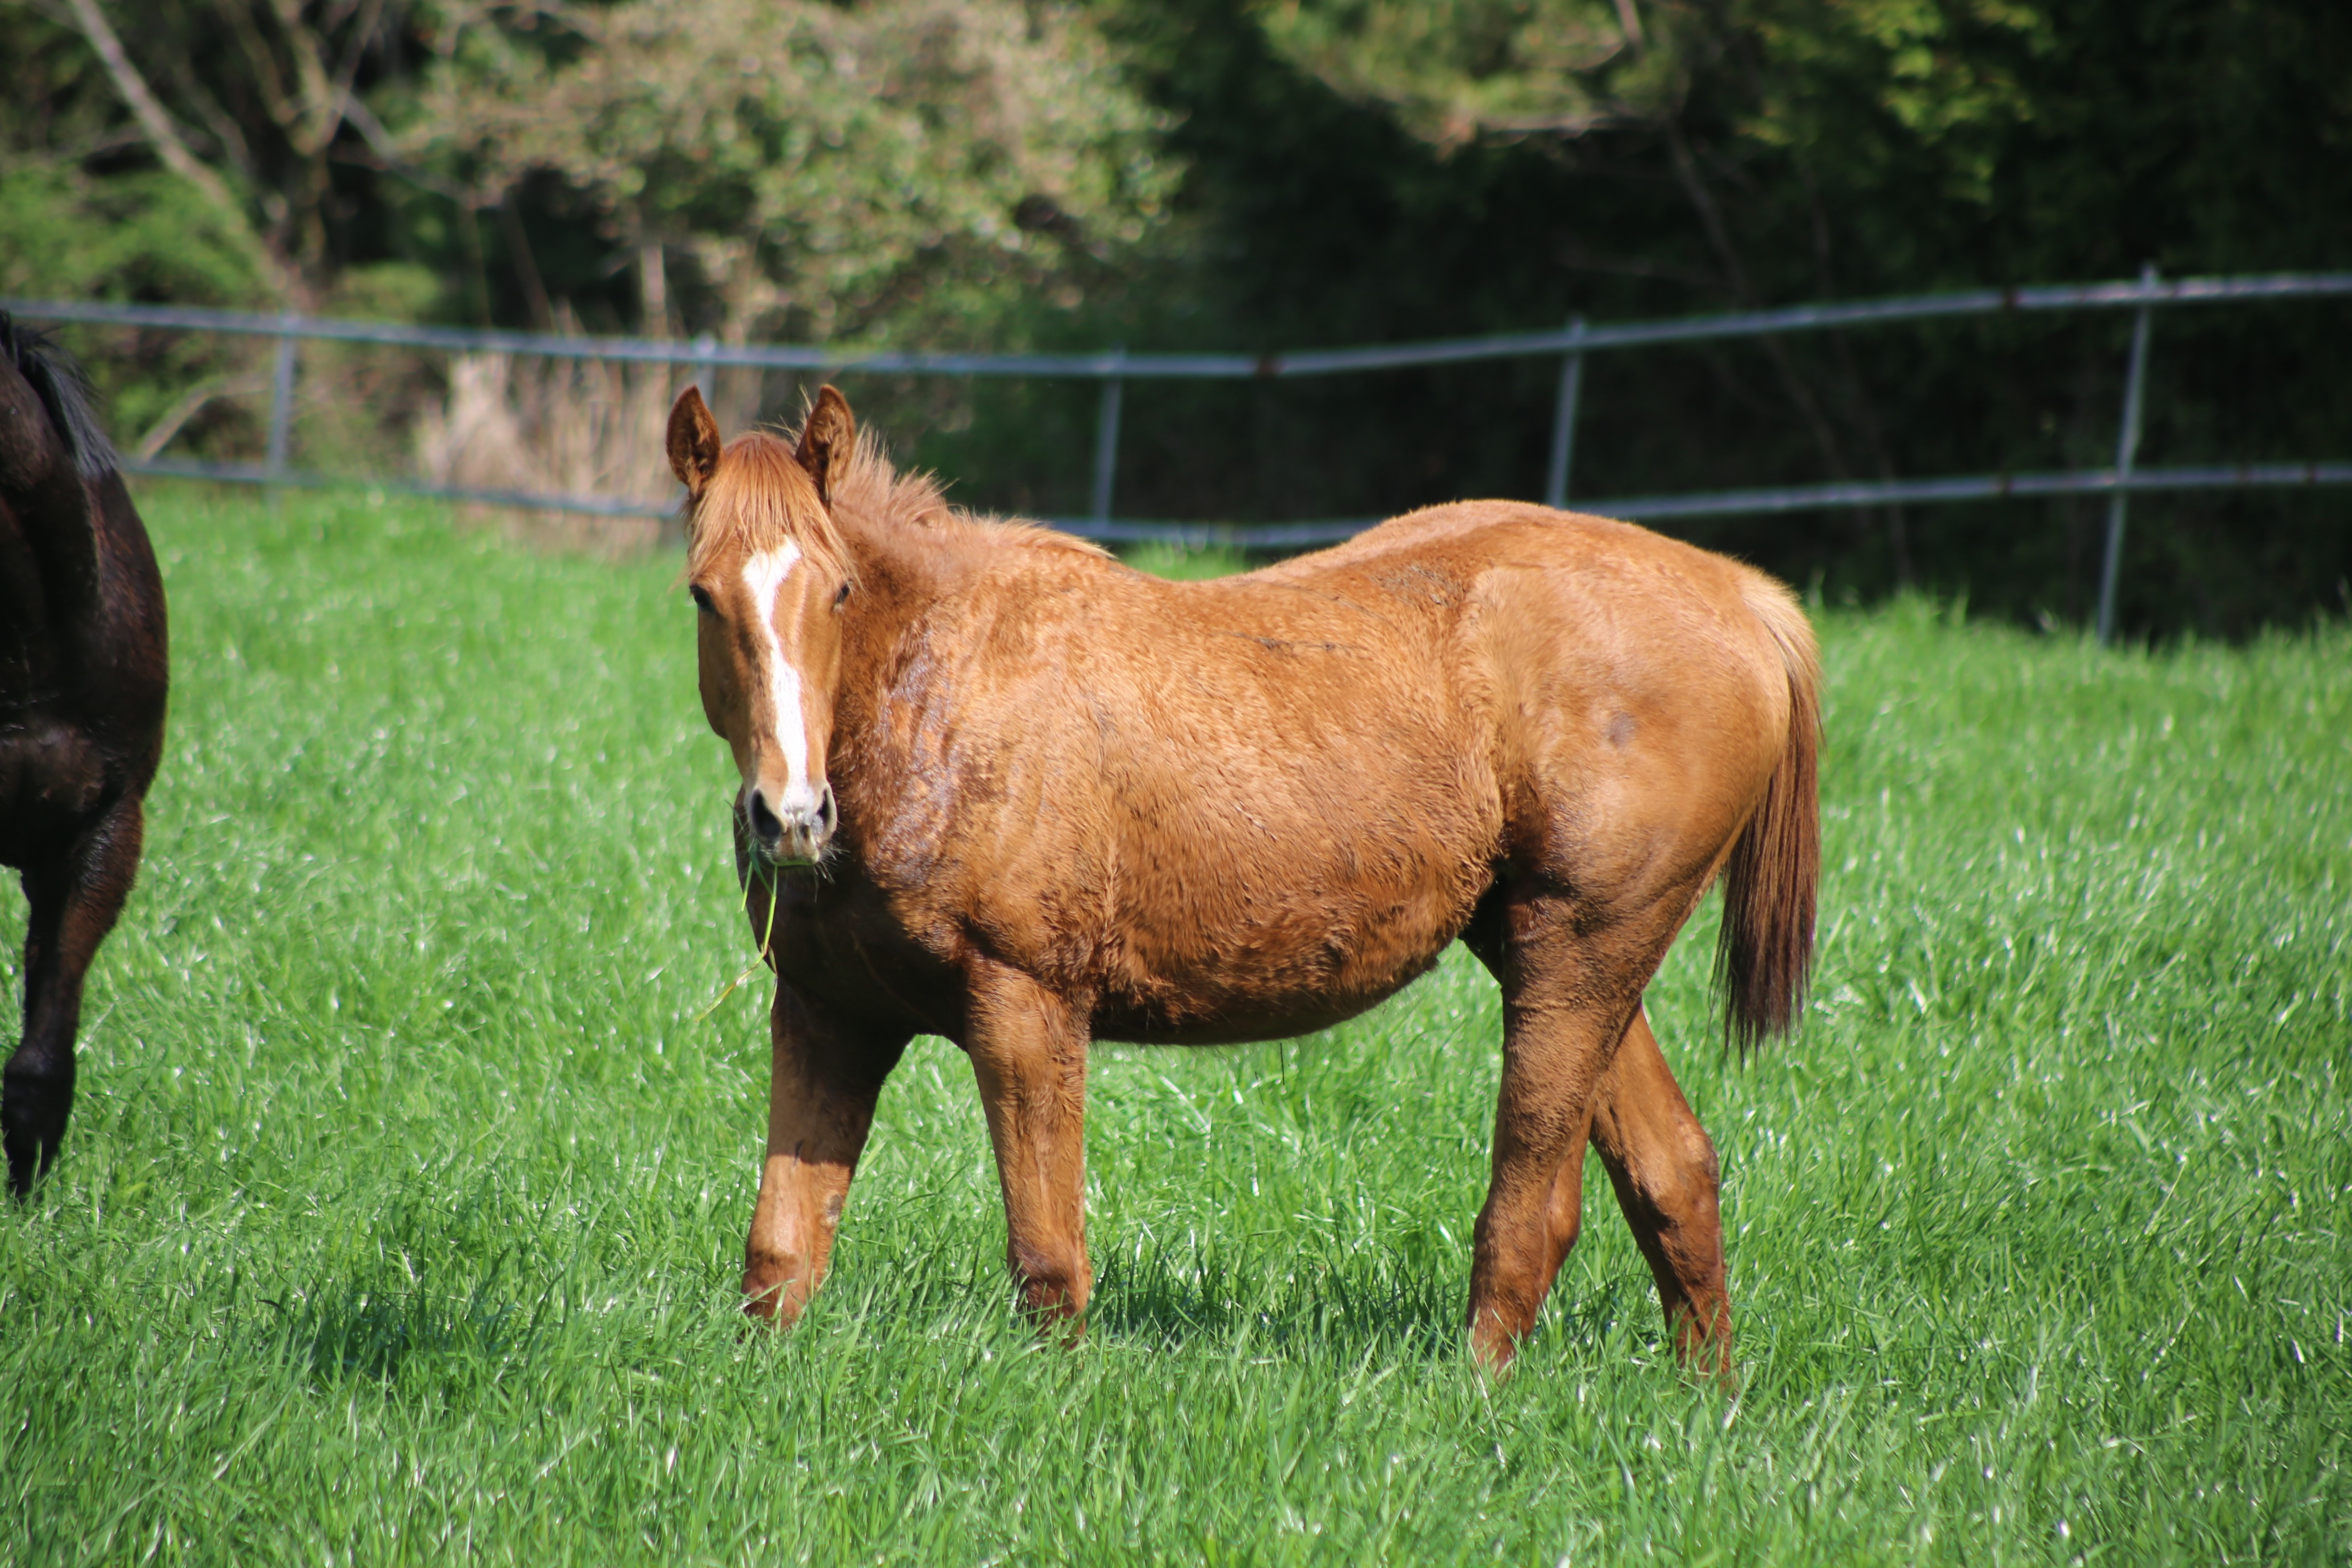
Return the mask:
M 1077 12 L 633 0 L 567 28 L 550 56 L 468 26 L 412 143 L 496 188 L 553 174 L 623 244 L 675 247 L 729 339 L 964 336 L 1141 240 L 1167 188 Z

